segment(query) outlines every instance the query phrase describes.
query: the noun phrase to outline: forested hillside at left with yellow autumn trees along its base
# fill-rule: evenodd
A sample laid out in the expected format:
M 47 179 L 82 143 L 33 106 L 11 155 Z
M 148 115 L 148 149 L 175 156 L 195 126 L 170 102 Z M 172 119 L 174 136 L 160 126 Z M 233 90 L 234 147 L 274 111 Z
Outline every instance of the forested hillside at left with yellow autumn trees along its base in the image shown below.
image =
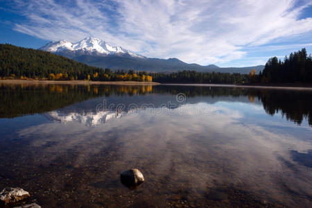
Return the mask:
M 49 80 L 134 80 L 152 81 L 146 73 L 135 71 L 112 72 L 110 69 L 90 67 L 61 55 L 0 44 L 1 78 L 34 78 Z

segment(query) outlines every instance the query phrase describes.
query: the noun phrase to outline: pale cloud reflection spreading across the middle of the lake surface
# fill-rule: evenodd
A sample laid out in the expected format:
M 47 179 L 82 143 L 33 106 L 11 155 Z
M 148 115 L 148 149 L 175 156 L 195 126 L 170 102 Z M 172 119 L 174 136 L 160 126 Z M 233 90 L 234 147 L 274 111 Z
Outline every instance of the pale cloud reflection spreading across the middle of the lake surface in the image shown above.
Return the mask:
M 71 164 L 78 168 L 105 152 L 113 155 L 107 168 L 118 173 L 137 167 L 150 183 L 159 182 L 159 189 L 181 188 L 185 184 L 191 189 L 205 189 L 216 182 L 232 183 L 288 205 L 311 196 L 311 171 L 294 162 L 289 152 L 312 149 L 310 129 L 303 130 L 301 137 L 305 139 L 298 139 L 291 131 L 302 130 L 300 126 L 284 133 L 274 132 L 261 120 L 248 123 L 248 117 L 237 107 L 240 103 L 232 103 L 232 108 L 217 104 L 159 107 L 155 114 L 138 110 L 93 128 L 80 123 L 87 121 L 83 119 L 44 123 L 21 130 L 19 137 L 28 138 L 38 156 L 49 156 L 40 157 L 38 163 L 53 162 L 74 151 Z M 250 111 L 254 109 L 251 105 L 245 107 L 248 106 Z M 196 108 L 205 109 L 205 113 L 194 113 Z M 290 168 L 290 164 L 295 168 Z M 162 182 L 164 178 L 167 184 Z M 288 191 L 297 195 L 285 198 Z

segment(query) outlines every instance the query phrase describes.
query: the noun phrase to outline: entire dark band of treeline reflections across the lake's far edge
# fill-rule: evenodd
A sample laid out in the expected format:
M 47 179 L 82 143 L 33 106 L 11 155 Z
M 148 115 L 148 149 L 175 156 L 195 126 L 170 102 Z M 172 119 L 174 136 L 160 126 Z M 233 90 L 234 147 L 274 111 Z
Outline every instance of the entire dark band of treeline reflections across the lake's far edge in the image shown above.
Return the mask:
M 118 85 L 0 85 L 0 117 L 12 118 L 57 110 L 90 98 L 110 96 L 135 96 L 146 94 L 183 93 L 189 98 L 203 97 L 218 101 L 240 101 L 231 98 L 248 98 L 244 101 L 258 101 L 264 110 L 274 115 L 281 112 L 286 119 L 301 124 L 304 119 L 312 126 L 312 92 L 277 89 L 253 89 L 239 87 L 195 87 L 195 86 L 118 86 Z M 197 100 L 196 100 L 197 101 Z M 221 99 L 220 99 L 221 101 Z M 153 103 L 153 99 L 148 101 Z M 155 102 L 155 101 L 154 101 Z

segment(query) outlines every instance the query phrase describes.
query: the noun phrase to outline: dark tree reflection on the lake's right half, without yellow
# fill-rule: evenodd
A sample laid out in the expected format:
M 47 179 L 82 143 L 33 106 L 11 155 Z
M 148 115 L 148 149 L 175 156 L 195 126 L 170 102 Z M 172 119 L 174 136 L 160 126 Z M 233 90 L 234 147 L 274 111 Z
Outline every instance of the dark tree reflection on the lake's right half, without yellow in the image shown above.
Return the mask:
M 312 92 L 280 89 L 254 89 L 235 87 L 157 86 L 156 93 L 184 93 L 193 96 L 248 96 L 250 102 L 260 101 L 267 114 L 281 112 L 287 120 L 301 124 L 304 119 L 312 126 Z

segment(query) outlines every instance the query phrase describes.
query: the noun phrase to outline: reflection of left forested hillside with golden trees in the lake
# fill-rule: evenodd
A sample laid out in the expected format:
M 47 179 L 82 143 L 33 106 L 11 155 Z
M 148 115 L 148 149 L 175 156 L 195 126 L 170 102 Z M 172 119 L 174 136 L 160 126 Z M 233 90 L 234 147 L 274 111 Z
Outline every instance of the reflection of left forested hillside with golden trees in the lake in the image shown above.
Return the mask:
M 0 85 L 0 118 L 49 112 L 98 96 L 145 94 L 151 86 Z

